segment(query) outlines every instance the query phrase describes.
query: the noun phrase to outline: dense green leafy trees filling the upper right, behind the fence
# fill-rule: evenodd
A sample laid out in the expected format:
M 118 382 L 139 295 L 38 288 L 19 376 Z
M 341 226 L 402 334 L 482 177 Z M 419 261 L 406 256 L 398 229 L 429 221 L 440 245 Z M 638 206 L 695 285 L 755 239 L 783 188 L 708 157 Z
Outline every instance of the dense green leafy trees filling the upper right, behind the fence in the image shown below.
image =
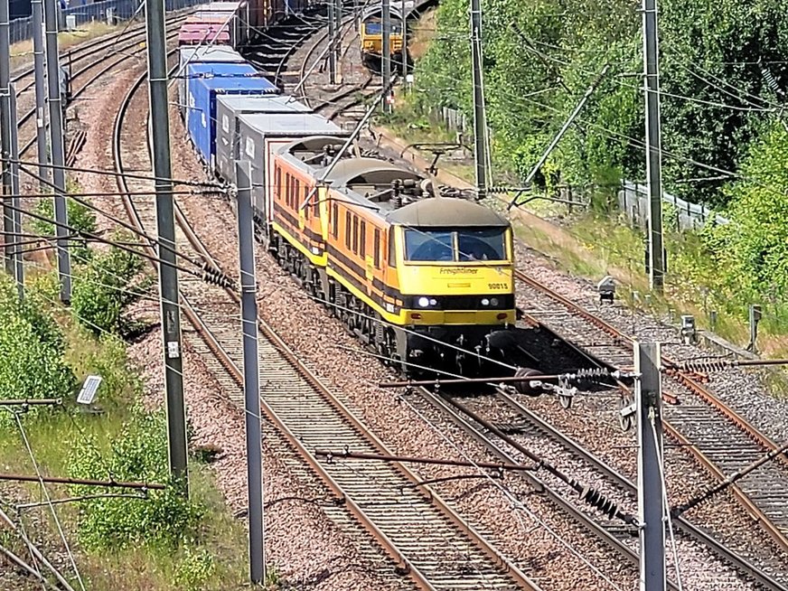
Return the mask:
M 468 0 L 444 0 L 417 62 L 417 106 L 473 116 Z M 661 0 L 662 147 L 667 190 L 726 202 L 721 188 L 780 108 L 788 11 L 777 0 Z M 522 177 L 605 64 L 610 70 L 548 170 L 575 184 L 644 176 L 640 3 L 483 2 L 484 86 L 497 162 Z

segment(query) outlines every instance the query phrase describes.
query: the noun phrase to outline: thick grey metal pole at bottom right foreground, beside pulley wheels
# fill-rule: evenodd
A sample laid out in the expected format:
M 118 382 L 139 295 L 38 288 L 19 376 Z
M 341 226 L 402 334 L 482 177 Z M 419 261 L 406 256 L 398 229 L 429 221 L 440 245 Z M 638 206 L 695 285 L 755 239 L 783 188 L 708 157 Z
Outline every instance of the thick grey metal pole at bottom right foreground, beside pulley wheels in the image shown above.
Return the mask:
M 659 343 L 635 342 L 638 427 L 638 520 L 641 591 L 665 591 L 665 505 L 662 483 L 661 352 Z

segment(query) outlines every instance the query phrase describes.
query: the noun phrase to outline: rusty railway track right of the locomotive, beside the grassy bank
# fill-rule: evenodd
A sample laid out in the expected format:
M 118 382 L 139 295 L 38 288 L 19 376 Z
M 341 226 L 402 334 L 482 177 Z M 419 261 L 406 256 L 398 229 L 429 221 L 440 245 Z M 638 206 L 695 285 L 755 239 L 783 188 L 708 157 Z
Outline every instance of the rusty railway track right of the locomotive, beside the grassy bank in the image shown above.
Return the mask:
M 517 279 L 531 317 L 577 349 L 593 352 L 598 361 L 632 367 L 631 337 L 534 278 L 518 272 Z M 664 355 L 662 363 L 667 368 L 677 367 Z M 675 369 L 666 373 L 663 394 L 678 402 L 663 405 L 666 432 L 686 446 L 714 478 L 722 481 L 777 449 L 773 441 L 699 383 L 701 376 Z M 786 482 L 788 460 L 781 455 L 730 487 L 738 502 L 783 550 L 788 550 Z

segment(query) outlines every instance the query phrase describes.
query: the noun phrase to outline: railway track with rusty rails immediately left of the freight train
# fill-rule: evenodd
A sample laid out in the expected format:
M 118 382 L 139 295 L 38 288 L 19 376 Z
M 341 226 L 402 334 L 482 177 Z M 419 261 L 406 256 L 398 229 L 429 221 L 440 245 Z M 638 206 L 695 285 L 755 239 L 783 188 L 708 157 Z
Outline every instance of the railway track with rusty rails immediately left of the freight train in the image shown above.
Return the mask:
M 145 77 L 136 81 L 115 122 L 113 151 L 117 172 L 121 174 L 117 177 L 118 188 L 125 193 L 150 190 L 150 184 L 127 181 L 122 176 L 127 167 L 150 169 L 145 149 L 139 145 L 143 128 L 129 132 L 124 127 L 128 113 L 147 112 L 141 102 L 144 82 Z M 134 155 L 130 165 L 125 162 L 127 154 Z M 149 235 L 155 232 L 153 202 L 152 197 L 126 200 L 138 231 Z M 215 266 L 183 214 L 177 218 L 179 251 Z M 182 310 L 193 326 L 193 332 L 184 334 L 195 348 L 211 352 L 214 368 L 225 374 L 225 380 L 234 382 L 232 399 L 242 408 L 238 298 L 234 292 L 206 286 L 196 277 L 182 277 Z M 388 452 L 340 395 L 325 388 L 261 319 L 258 325 L 263 368 L 260 377 L 265 392 L 260 405 L 267 421 L 276 427 L 277 440 L 291 455 L 295 450 L 301 462 L 320 476 L 324 486 L 342 502 L 344 517 L 340 521 L 352 519 L 360 524 L 365 535 L 371 536 L 393 562 L 396 572 L 407 575 L 410 588 L 539 589 L 429 486 L 419 485 L 416 474 L 404 465 L 318 462 L 311 453 L 318 447 L 351 446 Z M 286 454 L 286 450 L 282 453 Z M 364 544 L 369 545 L 369 538 Z

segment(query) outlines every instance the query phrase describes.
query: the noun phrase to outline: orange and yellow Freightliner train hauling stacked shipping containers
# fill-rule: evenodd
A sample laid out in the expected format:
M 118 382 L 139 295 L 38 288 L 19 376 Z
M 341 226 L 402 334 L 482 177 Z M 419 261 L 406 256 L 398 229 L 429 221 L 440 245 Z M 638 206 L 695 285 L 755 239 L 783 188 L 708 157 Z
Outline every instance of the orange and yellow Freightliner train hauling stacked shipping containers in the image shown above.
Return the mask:
M 230 44 L 180 48 L 179 104 L 211 174 L 249 186 L 236 175 L 249 162 L 258 239 L 389 363 L 485 371 L 518 314 L 509 222 L 403 165 L 342 152 L 348 132 Z

